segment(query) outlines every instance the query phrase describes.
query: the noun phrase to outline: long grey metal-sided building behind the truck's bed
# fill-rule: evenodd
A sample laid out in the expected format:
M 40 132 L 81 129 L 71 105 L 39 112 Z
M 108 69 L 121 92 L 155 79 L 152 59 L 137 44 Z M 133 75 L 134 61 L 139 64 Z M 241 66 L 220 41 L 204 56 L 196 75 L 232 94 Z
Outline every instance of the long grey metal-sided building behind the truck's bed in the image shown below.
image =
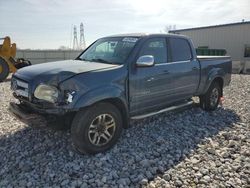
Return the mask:
M 225 49 L 233 60 L 233 72 L 250 73 L 250 21 L 171 30 L 189 36 L 195 48 Z

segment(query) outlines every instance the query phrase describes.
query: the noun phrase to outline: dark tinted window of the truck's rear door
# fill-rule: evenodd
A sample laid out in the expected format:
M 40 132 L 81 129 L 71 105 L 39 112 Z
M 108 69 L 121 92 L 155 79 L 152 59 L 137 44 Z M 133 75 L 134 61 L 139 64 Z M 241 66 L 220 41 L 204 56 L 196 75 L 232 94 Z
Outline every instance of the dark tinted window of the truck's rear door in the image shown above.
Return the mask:
M 182 38 L 170 38 L 172 62 L 188 61 L 192 58 L 191 49 L 187 40 Z

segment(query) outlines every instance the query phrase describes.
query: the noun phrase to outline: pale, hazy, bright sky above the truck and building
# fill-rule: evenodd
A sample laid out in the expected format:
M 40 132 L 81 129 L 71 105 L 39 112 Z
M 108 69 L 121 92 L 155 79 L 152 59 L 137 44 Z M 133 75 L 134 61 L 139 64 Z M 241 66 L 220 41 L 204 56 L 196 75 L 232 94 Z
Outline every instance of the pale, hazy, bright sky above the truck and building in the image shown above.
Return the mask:
M 0 0 L 0 37 L 21 49 L 72 47 L 83 22 L 87 45 L 121 33 L 250 21 L 250 0 Z

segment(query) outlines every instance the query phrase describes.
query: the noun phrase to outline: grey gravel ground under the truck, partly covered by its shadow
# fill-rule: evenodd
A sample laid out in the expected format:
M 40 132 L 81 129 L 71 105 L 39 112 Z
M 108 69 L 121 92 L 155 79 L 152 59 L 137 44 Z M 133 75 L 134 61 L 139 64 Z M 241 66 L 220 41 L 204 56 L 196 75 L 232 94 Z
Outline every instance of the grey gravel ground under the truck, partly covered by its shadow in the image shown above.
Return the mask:
M 225 103 L 132 121 L 106 153 L 79 155 L 70 133 L 8 113 L 0 83 L 0 187 L 250 187 L 250 75 L 233 75 Z

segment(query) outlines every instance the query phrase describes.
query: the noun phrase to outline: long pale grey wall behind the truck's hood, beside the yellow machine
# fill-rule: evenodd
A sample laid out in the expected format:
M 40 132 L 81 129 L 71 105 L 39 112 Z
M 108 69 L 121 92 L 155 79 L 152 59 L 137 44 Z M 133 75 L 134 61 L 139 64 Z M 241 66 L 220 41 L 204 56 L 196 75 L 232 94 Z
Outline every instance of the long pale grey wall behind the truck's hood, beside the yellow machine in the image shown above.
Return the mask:
M 75 59 L 82 51 L 70 50 L 17 50 L 16 58 L 30 60 L 32 64 Z

